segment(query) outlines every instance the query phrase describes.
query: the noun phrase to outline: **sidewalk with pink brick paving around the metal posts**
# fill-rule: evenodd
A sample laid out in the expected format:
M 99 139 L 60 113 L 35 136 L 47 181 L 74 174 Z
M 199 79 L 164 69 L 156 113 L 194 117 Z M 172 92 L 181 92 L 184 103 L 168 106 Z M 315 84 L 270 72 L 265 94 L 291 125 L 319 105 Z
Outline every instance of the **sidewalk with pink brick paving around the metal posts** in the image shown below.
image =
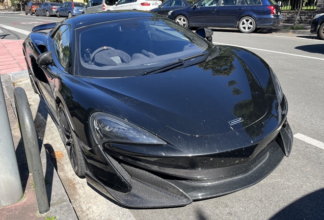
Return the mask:
M 14 85 L 21 80 L 29 80 L 28 71 L 22 53 L 22 40 L 0 40 L 0 77 L 13 136 L 18 169 L 24 192 L 23 198 L 16 204 L 0 207 L 0 218 L 42 219 L 56 216 L 56 219 L 78 219 L 61 179 L 55 169 L 56 160 L 47 152 L 42 143 L 41 160 L 50 210 L 39 214 L 33 177 L 29 174 L 24 148 L 15 114 L 13 99 Z M 31 103 L 30 103 L 31 104 Z M 3 116 L 2 116 L 3 117 Z

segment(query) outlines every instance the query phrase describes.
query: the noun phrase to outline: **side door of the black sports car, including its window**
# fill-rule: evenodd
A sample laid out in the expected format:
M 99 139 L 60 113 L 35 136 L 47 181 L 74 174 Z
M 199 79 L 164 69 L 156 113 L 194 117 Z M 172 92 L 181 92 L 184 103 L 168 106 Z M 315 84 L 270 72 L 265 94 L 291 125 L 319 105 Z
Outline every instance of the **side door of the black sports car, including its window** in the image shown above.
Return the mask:
M 56 113 L 55 91 L 60 86 L 62 74 L 68 74 L 70 69 L 69 60 L 71 59 L 70 48 L 70 29 L 68 25 L 61 25 L 53 34 L 49 42 L 48 50 L 52 51 L 53 63 L 48 66 L 40 66 L 46 78 L 39 81 L 40 90 L 47 103 L 47 107 L 52 113 Z M 55 114 L 53 114 L 55 115 Z

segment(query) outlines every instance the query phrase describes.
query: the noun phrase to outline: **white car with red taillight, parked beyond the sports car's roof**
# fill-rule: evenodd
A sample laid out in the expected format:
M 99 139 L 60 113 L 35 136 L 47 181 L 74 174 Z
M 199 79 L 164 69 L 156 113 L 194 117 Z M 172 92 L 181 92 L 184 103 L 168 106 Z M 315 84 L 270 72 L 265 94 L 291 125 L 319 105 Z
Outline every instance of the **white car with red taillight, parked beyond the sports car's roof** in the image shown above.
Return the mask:
M 148 1 L 148 0 L 120 0 L 109 7 L 107 10 L 143 10 L 149 11 L 157 6 L 161 5 L 161 1 Z

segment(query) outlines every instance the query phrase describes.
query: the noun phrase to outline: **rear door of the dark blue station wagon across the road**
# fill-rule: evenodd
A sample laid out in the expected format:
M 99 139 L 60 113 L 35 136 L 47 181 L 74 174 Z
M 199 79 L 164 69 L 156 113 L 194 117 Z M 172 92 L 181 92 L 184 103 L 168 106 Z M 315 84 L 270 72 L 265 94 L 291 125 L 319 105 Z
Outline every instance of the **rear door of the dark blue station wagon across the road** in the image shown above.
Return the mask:
M 238 20 L 245 13 L 245 9 L 244 0 L 221 0 L 221 5 L 217 10 L 218 26 L 236 28 Z

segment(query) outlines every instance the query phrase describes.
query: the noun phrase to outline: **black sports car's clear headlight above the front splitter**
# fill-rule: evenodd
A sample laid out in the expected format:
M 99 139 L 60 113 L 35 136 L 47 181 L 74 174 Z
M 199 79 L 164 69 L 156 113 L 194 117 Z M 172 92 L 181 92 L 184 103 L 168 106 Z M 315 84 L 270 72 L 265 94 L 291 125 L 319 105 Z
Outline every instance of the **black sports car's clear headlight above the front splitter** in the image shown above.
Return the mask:
M 90 127 L 98 145 L 105 142 L 150 145 L 166 144 L 143 128 L 106 113 L 94 113 L 90 117 Z

